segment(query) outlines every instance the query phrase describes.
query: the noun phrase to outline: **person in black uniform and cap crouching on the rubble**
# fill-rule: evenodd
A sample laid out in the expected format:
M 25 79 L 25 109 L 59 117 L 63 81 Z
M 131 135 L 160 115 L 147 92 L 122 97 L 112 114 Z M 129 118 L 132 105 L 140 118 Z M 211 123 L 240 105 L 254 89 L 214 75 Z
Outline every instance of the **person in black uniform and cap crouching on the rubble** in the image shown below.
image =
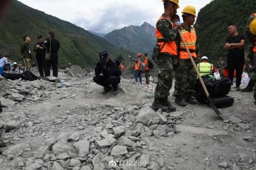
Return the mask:
M 95 67 L 95 77 L 93 81 L 104 87 L 102 94 L 107 93 L 113 88 L 113 95 L 117 95 L 118 88 L 117 85 L 120 83 L 120 76 L 122 74 L 119 68 L 119 62 L 112 60 L 108 56 L 107 51 L 101 51 L 99 53 L 100 60 L 97 62 Z M 112 88 L 111 88 L 111 86 Z

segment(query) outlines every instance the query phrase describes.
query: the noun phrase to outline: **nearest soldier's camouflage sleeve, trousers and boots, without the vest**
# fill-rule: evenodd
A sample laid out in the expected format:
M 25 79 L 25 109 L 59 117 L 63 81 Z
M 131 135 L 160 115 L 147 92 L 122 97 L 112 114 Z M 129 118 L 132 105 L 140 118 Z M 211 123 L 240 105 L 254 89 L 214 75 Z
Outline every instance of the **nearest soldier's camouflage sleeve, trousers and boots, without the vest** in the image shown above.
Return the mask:
M 158 20 L 156 24 L 156 29 L 161 33 L 165 42 L 173 42 L 176 39 L 176 35 L 178 30 L 176 27 L 172 27 L 172 23 L 167 15 L 162 15 L 164 18 Z M 168 44 L 165 44 L 166 46 Z M 176 48 L 176 46 L 175 46 Z M 160 50 L 161 51 L 161 50 Z M 176 56 L 171 55 L 168 52 L 161 53 L 159 51 L 159 55 L 156 56 L 154 59 L 155 63 L 157 64 L 158 69 L 158 82 L 156 85 L 154 102 L 152 103 L 151 108 L 154 110 L 169 110 L 174 112 L 176 108 L 171 105 L 171 102 L 168 101 L 168 96 L 170 95 L 170 90 L 173 85 L 173 60 Z

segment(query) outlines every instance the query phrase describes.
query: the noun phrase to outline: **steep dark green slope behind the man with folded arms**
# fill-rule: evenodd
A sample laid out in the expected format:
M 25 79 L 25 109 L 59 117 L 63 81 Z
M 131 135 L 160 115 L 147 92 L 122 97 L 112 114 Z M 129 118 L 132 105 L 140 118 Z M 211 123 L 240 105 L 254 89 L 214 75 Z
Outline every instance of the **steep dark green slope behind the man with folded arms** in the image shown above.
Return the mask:
M 223 46 L 228 24 L 236 24 L 238 32 L 243 33 L 249 16 L 256 12 L 255 6 L 255 0 L 213 0 L 202 8 L 195 24 L 201 57 L 207 56 L 213 64 L 219 57 L 226 58 Z

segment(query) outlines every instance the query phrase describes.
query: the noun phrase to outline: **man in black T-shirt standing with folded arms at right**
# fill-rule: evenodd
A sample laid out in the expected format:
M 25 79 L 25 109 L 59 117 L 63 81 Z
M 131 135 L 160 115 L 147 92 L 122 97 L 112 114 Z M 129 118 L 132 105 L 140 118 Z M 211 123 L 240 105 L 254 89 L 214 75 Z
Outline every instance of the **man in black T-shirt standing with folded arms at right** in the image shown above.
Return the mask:
M 226 38 L 224 45 L 228 49 L 227 64 L 228 64 L 228 79 L 233 82 L 233 75 L 236 69 L 236 91 L 240 91 L 240 84 L 243 73 L 243 65 L 245 63 L 244 48 L 245 37 L 237 32 L 235 24 L 228 25 L 228 33 L 230 36 Z

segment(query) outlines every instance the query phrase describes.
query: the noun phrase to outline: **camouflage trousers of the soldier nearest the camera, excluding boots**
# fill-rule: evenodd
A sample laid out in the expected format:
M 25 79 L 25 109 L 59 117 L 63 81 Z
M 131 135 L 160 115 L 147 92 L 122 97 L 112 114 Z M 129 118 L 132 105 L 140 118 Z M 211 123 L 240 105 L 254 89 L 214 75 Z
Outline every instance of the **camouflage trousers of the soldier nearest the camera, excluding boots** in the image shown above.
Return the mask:
M 155 58 L 158 66 L 158 82 L 156 84 L 155 99 L 165 99 L 170 95 L 173 86 L 173 57 L 167 54 L 160 54 Z

